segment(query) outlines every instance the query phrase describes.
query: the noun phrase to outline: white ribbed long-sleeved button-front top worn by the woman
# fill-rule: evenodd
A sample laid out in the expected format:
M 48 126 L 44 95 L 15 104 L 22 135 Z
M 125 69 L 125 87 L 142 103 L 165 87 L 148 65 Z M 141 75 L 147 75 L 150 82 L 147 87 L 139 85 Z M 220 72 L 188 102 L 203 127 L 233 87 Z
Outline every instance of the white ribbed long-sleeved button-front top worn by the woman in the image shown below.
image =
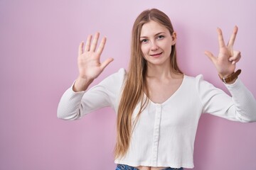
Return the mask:
M 107 106 L 117 113 L 125 75 L 126 71 L 119 69 L 97 86 L 78 93 L 70 87 L 60 99 L 58 118 L 75 120 Z M 129 166 L 193 168 L 194 141 L 201 113 L 240 122 L 256 121 L 255 98 L 240 79 L 225 86 L 232 98 L 204 81 L 202 75 L 184 75 L 181 86 L 164 103 L 149 100 L 134 127 L 126 156 L 114 162 Z M 140 103 L 133 118 L 139 106 Z

